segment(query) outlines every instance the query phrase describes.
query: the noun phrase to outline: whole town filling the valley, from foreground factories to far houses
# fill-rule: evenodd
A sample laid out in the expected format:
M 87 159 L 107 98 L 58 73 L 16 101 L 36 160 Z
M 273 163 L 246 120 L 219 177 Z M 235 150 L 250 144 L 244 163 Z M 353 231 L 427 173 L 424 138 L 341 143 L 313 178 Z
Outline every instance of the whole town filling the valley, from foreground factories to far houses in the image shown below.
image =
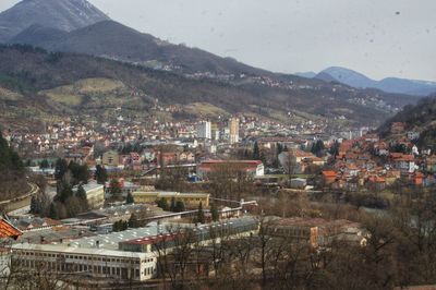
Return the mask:
M 187 234 L 198 221 L 205 232 L 230 222 L 228 238 L 238 234 L 240 242 L 255 233 L 302 243 L 307 251 L 332 249 L 336 241 L 365 247 L 371 234 L 364 223 L 352 216 L 325 216 L 329 212 L 318 204 L 339 194 L 344 204 L 387 210 L 399 192 L 435 185 L 436 156 L 431 146 L 419 145 L 420 132 L 402 122 L 390 124 L 388 138 L 368 128 L 328 130 L 323 123 L 287 126 L 244 114 L 147 126 L 121 116 L 112 124 L 69 119 L 41 134 L 5 130 L 4 140 L 20 153 L 28 174 L 46 180 L 32 178 L 40 192 L 28 209 L 7 209 L 4 227 L 28 241 L 12 251 L 20 257 L 73 251 L 78 261 L 95 250 L 96 257 L 141 252 L 145 270 L 118 274 L 123 266 L 114 259 L 100 271 L 142 282 L 165 275 L 157 273 L 161 257 L 153 250 L 161 246 L 160 234 Z M 276 198 L 283 205 L 271 202 Z M 16 201 L 12 204 L 22 200 Z M 258 210 L 268 213 L 267 226 Z M 194 234 L 190 243 L 206 246 L 209 239 Z M 69 267 L 101 277 L 71 258 Z

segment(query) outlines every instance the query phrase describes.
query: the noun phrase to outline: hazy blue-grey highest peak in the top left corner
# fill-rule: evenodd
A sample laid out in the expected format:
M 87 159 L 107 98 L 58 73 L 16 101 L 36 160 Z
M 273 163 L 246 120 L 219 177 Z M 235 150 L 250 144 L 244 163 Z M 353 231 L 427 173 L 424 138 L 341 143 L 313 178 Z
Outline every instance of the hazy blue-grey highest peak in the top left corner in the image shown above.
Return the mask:
M 0 13 L 0 43 L 38 24 L 71 32 L 109 17 L 86 0 L 24 0 Z

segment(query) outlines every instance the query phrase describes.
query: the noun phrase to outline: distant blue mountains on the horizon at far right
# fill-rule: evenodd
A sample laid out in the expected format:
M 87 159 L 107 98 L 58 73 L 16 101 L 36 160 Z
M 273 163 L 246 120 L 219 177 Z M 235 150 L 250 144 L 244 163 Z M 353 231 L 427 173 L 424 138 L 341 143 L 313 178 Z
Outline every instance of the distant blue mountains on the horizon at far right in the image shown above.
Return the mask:
M 338 82 L 355 88 L 377 88 L 387 93 L 428 96 L 436 93 L 436 82 L 387 77 L 375 81 L 366 75 L 340 67 L 331 67 L 319 73 L 306 72 L 296 75 L 308 78 L 318 78 L 325 82 Z

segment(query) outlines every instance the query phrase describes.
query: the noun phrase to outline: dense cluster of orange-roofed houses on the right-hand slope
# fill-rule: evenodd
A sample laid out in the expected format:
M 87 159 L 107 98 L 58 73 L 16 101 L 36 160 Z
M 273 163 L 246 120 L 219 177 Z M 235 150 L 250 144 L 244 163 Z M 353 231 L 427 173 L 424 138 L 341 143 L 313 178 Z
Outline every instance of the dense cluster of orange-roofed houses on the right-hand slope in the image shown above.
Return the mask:
M 353 191 L 384 190 L 398 180 L 416 186 L 435 184 L 436 156 L 417 149 L 413 144 L 417 133 L 404 132 L 402 123 L 393 123 L 391 132 L 397 135 L 390 141 L 366 134 L 342 142 L 331 168 L 322 172 L 324 185 Z

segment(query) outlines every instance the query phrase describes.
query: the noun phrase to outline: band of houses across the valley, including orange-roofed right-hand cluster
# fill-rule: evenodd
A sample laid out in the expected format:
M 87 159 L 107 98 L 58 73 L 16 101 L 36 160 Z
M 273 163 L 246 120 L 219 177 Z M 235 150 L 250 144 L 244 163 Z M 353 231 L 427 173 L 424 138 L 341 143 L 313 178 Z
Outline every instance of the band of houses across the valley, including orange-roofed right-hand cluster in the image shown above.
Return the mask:
M 120 116 L 114 124 L 68 120 L 48 125 L 43 134 L 4 131 L 3 136 L 28 167 L 45 172 L 53 172 L 57 158 L 87 165 L 92 170 L 100 165 L 109 171 L 250 159 L 256 145 L 256 157 L 262 155 L 267 172 L 304 174 L 316 169 L 323 185 L 332 190 L 383 191 L 399 180 L 420 186 L 435 182 L 432 148 L 419 148 L 420 133 L 407 131 L 401 122 L 391 124 L 395 137 L 389 140 L 366 133 L 367 128 L 331 135 L 326 131 L 327 124 L 319 122 L 287 126 L 247 116 L 217 122 L 156 121 L 145 128 Z M 323 143 L 318 156 L 311 152 L 317 142 Z M 48 160 L 46 168 L 41 167 L 43 160 Z

